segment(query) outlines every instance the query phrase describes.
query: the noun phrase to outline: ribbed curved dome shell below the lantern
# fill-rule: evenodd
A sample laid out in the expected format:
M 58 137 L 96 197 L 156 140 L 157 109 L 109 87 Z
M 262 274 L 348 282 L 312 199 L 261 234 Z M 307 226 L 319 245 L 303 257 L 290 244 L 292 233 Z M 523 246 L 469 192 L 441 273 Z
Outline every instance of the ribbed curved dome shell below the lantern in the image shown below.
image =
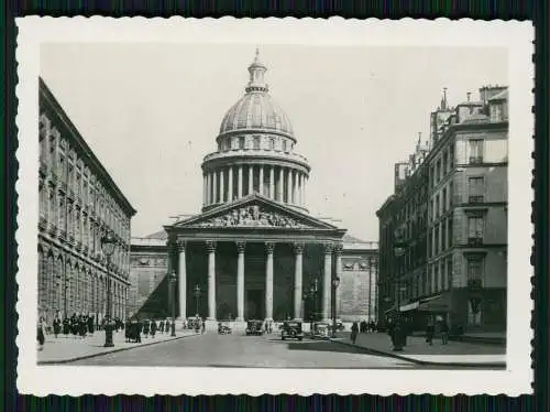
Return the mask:
M 290 119 L 267 91 L 246 93 L 226 113 L 220 134 L 238 130 L 267 131 L 293 137 Z

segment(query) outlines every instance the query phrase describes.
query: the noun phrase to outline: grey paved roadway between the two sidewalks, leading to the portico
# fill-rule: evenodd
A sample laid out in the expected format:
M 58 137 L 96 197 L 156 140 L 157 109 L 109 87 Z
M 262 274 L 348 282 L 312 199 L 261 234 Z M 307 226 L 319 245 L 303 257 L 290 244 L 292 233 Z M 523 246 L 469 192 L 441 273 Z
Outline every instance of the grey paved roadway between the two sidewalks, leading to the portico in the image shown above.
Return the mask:
M 326 340 L 288 341 L 277 335 L 205 335 L 84 359 L 69 365 L 262 368 L 415 368 Z

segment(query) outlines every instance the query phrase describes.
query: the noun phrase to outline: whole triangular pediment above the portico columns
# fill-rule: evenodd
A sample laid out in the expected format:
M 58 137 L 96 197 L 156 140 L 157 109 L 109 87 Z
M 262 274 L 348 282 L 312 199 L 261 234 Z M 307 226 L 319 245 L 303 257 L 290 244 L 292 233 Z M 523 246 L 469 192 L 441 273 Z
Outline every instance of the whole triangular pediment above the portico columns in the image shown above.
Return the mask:
M 339 229 L 306 213 L 257 194 L 178 221 L 174 226 L 179 228 Z

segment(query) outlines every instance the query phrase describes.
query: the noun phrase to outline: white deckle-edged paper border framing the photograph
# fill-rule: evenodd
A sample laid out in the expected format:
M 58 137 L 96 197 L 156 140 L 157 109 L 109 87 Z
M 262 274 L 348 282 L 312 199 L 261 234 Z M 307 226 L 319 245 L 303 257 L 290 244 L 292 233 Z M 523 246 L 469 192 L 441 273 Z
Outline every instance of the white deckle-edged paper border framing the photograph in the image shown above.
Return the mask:
M 216 393 L 531 393 L 532 268 L 530 223 L 534 97 L 534 30 L 530 22 L 367 21 L 312 19 L 16 19 L 19 85 L 19 346 L 18 389 L 22 393 L 216 394 Z M 503 46 L 509 59 L 509 207 L 507 369 L 490 370 L 308 370 L 37 367 L 37 76 L 45 42 L 205 42 L 365 46 Z

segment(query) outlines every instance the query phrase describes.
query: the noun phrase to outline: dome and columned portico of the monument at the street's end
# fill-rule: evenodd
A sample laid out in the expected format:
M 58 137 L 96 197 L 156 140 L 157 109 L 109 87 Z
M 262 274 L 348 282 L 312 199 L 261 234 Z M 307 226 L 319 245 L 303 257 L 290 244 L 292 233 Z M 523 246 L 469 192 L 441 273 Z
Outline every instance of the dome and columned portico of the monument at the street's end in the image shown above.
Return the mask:
M 256 56 L 201 164 L 201 213 L 165 226 L 177 316 L 328 319 L 345 229 L 309 215 L 311 172 Z

